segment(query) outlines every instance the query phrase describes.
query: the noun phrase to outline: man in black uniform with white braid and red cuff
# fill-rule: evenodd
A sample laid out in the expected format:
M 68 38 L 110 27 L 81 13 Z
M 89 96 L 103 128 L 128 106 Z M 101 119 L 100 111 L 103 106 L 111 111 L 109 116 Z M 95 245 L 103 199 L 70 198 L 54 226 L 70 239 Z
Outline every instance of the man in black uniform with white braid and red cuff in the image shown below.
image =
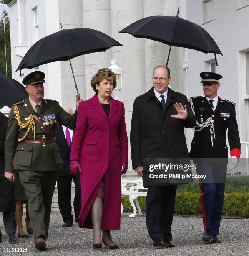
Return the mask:
M 221 240 L 217 235 L 224 201 L 228 158 L 226 131 L 228 130 L 228 142 L 231 148 L 230 170 L 238 165 L 240 138 L 235 103 L 222 100 L 217 95 L 219 80 L 222 76 L 213 72 L 202 72 L 200 76 L 205 97 L 191 97 L 190 100 L 191 108 L 197 118 L 190 157 L 194 158 L 197 163 L 197 173 L 205 173 L 208 176 L 206 182 L 199 180 L 202 190 L 201 210 L 204 223 L 202 240 L 220 243 Z M 210 161 L 201 160 L 205 158 L 209 158 Z M 217 182 L 217 179 L 221 180 L 221 177 L 223 181 Z

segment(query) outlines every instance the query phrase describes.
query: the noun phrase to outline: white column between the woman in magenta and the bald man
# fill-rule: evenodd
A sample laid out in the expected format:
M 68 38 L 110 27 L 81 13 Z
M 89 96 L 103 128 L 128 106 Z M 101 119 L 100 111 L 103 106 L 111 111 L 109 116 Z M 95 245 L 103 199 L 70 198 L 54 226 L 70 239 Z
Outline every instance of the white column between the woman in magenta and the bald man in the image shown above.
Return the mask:
M 123 46 L 113 47 L 113 59 L 123 68 L 123 90 L 120 100 L 125 104 L 126 128 L 130 141 L 131 115 L 136 97 L 146 92 L 144 39 L 134 38 L 121 29 L 143 18 L 143 0 L 111 0 L 112 37 Z M 132 170 L 129 146 L 129 165 L 125 176 L 136 176 Z

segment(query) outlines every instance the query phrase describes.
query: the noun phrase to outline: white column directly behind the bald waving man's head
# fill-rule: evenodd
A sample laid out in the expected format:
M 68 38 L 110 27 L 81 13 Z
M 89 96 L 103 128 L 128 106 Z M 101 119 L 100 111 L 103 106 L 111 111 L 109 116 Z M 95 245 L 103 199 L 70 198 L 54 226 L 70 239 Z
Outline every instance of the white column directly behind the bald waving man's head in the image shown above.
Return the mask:
M 165 15 L 176 16 L 179 0 L 144 0 L 144 16 Z M 162 28 L 163 33 L 163 28 Z M 152 86 L 153 69 L 158 65 L 166 65 L 169 46 L 157 41 L 145 39 L 146 90 Z M 183 49 L 172 47 L 168 67 L 171 71 L 171 88 L 184 92 L 183 88 Z

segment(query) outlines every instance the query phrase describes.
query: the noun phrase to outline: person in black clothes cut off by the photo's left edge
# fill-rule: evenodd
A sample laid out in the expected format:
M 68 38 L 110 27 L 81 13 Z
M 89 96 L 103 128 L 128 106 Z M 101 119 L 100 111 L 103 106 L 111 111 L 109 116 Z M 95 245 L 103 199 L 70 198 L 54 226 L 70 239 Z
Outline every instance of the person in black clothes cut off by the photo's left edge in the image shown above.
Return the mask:
M 0 112 L 0 212 L 3 212 L 3 223 L 9 242 L 18 241 L 15 223 L 15 184 L 4 177 L 4 146 L 8 118 Z M 0 242 L 2 233 L 0 230 Z

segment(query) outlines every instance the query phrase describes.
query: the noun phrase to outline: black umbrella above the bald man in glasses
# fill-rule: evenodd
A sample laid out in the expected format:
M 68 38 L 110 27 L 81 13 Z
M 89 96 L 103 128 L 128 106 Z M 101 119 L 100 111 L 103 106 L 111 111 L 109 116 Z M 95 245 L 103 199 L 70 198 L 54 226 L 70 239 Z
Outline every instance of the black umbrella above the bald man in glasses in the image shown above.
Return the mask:
M 128 33 L 134 37 L 147 38 L 168 44 L 169 54 L 171 46 L 185 47 L 204 53 L 213 52 L 221 54 L 221 51 L 214 39 L 199 25 L 178 17 L 179 8 L 176 16 L 151 16 L 137 20 L 128 27 L 122 29 L 121 33 Z M 169 55 L 167 64 L 169 62 Z

